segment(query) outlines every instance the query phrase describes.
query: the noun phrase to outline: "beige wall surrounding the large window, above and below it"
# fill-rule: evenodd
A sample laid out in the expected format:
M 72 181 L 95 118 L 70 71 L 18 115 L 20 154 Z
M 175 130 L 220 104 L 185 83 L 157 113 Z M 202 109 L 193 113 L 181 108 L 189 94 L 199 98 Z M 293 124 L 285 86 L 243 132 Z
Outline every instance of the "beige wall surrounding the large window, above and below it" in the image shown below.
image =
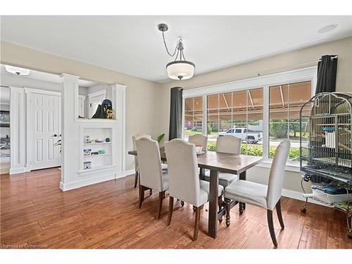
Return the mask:
M 258 73 L 260 75 L 269 75 L 287 70 L 306 68 L 317 65 L 318 60 L 322 55 L 332 54 L 337 54 L 339 56 L 339 61 L 337 64 L 337 92 L 352 93 L 352 37 L 348 37 L 346 39 L 339 39 L 335 42 L 311 46 L 306 49 L 263 58 L 259 61 L 252 61 L 250 63 L 196 75 L 189 80 L 163 83 L 164 99 L 162 102 L 164 116 L 162 119 L 169 119 L 171 87 L 178 86 L 184 89 L 192 89 L 196 87 L 204 87 L 213 84 L 248 79 L 258 76 Z M 161 131 L 168 134 L 168 122 L 161 125 Z M 247 175 L 249 180 L 266 184 L 268 182 L 269 172 L 269 168 L 256 167 L 251 168 Z M 301 191 L 300 184 L 301 173 L 290 171 L 285 173 L 284 189 Z

